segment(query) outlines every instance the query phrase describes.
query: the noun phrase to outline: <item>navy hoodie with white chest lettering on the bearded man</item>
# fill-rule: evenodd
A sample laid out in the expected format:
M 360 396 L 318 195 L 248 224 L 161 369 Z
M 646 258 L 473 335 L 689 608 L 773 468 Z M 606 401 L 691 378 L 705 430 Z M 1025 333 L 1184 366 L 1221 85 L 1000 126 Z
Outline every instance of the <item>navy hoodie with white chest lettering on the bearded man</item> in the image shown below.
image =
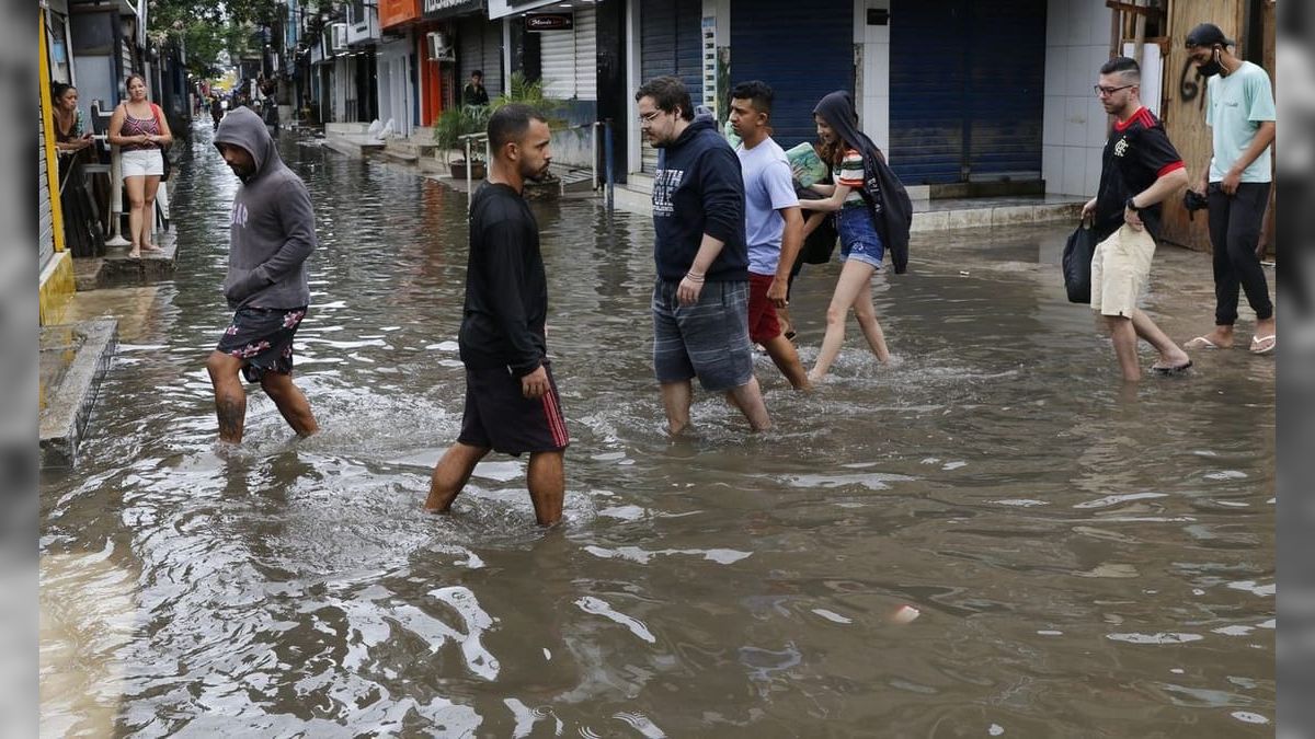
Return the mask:
M 725 242 L 707 268 L 707 281 L 748 280 L 744 179 L 739 156 L 710 114 L 694 116 L 676 141 L 658 150 L 654 231 L 654 260 L 661 280 L 685 276 L 704 234 Z

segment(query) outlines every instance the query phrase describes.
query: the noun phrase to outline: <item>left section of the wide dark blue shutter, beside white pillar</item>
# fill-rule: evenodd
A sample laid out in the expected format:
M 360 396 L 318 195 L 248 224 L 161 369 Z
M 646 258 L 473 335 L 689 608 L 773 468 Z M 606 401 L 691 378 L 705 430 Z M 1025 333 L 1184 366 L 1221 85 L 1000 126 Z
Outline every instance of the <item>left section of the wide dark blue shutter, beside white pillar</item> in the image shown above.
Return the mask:
M 905 184 L 956 183 L 964 176 L 968 18 L 961 0 L 892 1 L 890 168 Z M 993 87 L 1006 84 L 1001 79 Z

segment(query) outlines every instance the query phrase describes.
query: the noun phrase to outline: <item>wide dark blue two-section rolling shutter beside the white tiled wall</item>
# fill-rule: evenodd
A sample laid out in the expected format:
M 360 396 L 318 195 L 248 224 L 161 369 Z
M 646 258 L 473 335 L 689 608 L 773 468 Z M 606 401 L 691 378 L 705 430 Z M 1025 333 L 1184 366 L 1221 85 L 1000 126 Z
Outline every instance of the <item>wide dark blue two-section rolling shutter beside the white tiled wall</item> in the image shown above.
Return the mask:
M 890 158 L 907 184 L 1041 175 L 1045 0 L 893 0 Z

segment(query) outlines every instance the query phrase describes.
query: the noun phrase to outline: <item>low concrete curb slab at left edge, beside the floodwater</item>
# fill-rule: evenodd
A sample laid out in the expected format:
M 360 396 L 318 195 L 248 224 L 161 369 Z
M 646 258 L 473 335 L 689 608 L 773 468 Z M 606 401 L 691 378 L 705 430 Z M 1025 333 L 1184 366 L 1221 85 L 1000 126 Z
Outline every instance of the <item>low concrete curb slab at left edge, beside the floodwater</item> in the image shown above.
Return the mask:
M 41 329 L 41 467 L 72 467 L 100 383 L 118 345 L 118 321 Z

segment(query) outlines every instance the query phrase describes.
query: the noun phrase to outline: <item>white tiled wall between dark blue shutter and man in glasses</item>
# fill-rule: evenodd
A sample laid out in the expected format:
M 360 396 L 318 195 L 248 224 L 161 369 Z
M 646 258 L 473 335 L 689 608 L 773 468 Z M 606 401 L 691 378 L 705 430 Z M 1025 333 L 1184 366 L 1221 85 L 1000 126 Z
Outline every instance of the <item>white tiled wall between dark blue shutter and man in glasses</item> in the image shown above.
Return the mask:
M 1048 195 L 1091 196 L 1109 116 L 1093 87 L 1110 59 L 1111 13 L 1093 0 L 1048 0 L 1041 176 Z

